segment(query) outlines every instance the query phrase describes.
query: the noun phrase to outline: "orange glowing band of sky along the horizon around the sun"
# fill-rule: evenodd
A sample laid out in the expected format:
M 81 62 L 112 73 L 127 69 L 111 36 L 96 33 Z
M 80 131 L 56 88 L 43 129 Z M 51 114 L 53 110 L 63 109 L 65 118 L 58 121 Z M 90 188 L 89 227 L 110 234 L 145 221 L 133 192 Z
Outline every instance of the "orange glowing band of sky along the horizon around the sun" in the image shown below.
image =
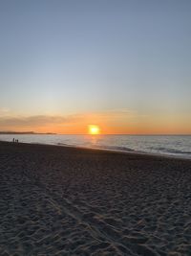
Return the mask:
M 96 125 L 102 134 L 190 134 L 191 121 L 182 115 L 144 115 L 120 109 L 105 112 L 63 115 L 0 117 L 1 130 L 87 134 Z

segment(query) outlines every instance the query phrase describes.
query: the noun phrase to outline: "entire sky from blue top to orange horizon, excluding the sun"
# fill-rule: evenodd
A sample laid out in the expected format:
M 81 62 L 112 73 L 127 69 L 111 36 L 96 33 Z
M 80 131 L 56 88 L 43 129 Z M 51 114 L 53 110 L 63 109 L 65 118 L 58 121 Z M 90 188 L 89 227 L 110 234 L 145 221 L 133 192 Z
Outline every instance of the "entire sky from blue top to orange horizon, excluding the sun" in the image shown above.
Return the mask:
M 0 130 L 191 134 L 190 0 L 0 0 Z

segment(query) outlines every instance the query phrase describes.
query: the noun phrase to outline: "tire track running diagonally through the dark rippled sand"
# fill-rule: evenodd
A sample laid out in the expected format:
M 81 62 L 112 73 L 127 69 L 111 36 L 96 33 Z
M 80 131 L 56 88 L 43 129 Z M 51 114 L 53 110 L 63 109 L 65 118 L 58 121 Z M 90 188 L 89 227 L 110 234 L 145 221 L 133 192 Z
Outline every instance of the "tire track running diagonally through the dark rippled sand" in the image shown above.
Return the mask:
M 67 214 L 75 221 L 86 226 L 87 231 L 98 243 L 110 243 L 118 251 L 119 255 L 147 255 L 147 256 L 159 256 L 158 253 L 150 250 L 149 248 L 142 246 L 143 244 L 133 244 L 127 237 L 122 239 L 118 231 L 111 225 L 99 221 L 98 216 L 94 213 L 83 214 L 68 198 L 58 198 L 52 191 L 45 187 L 39 180 L 35 181 L 34 186 L 42 190 L 42 193 L 48 196 L 48 201 L 53 205 L 53 208 L 57 211 L 58 215 Z M 87 206 L 88 207 L 88 206 Z

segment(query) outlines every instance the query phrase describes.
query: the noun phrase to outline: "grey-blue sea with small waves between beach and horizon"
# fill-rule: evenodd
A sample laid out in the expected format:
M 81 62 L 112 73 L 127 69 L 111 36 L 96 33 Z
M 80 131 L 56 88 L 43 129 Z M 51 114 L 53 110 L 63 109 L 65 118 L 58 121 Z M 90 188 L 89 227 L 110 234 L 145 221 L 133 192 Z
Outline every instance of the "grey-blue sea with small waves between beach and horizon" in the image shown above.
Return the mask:
M 0 134 L 0 140 L 76 146 L 115 151 L 135 151 L 191 158 L 191 135 L 47 135 Z

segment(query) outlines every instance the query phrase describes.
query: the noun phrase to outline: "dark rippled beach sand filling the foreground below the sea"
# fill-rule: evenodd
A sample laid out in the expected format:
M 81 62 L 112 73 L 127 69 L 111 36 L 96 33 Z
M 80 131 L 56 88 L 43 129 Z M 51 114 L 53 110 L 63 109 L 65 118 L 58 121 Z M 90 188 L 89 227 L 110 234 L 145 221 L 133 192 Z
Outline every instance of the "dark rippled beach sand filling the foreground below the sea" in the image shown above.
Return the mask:
M 0 143 L 0 255 L 191 255 L 191 161 Z

